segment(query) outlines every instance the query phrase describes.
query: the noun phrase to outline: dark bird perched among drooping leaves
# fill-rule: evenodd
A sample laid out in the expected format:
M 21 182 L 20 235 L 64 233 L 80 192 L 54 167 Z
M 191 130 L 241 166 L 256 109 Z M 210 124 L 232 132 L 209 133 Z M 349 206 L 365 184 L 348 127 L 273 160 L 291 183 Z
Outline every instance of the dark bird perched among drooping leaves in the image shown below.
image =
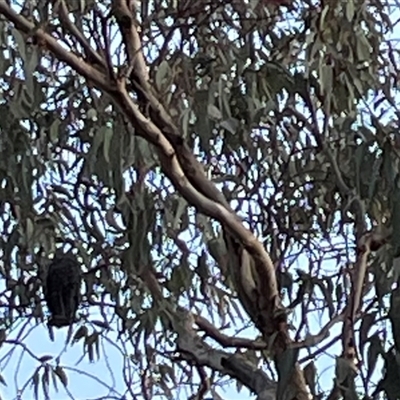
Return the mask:
M 44 297 L 51 314 L 50 326 L 61 328 L 76 321 L 81 279 L 81 267 L 76 256 L 58 249 L 48 266 L 44 287 Z

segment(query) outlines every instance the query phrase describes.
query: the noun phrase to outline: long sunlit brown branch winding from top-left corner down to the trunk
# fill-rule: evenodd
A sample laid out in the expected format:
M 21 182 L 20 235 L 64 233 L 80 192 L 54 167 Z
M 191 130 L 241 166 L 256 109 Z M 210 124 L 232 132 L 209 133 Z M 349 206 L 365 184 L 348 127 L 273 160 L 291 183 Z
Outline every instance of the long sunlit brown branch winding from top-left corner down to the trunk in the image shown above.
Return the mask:
M 271 258 L 263 248 L 262 244 L 255 238 L 251 231 L 246 229 L 237 215 L 227 209 L 226 206 L 218 204 L 218 200 L 210 200 L 204 194 L 200 193 L 188 180 L 182 166 L 178 160 L 177 152 L 175 151 L 171 142 L 165 137 L 163 132 L 148 118 L 146 118 L 139 110 L 137 104 L 133 102 L 126 87 L 124 80 L 121 80 L 117 86 L 109 82 L 108 77 L 93 68 L 90 64 L 86 63 L 75 54 L 68 52 L 64 49 L 56 39 L 46 33 L 40 28 L 36 28 L 33 23 L 25 19 L 23 16 L 17 14 L 10 6 L 7 5 L 5 0 L 0 0 L 0 13 L 7 19 L 15 24 L 15 26 L 26 34 L 30 34 L 39 39 L 45 47 L 53 52 L 53 54 L 67 63 L 70 67 L 79 72 L 86 79 L 95 83 L 99 88 L 106 91 L 117 104 L 122 108 L 123 112 L 130 120 L 132 125 L 137 129 L 137 133 L 154 144 L 159 150 L 161 164 L 166 175 L 174 183 L 176 189 L 188 200 L 191 204 L 197 207 L 200 211 L 217 219 L 224 226 L 229 228 L 232 234 L 239 239 L 243 246 L 255 257 L 258 265 L 264 266 L 264 289 L 270 299 L 276 298 L 277 284 L 275 277 L 275 270 Z M 159 103 L 158 103 L 159 104 Z M 161 107 L 161 105 L 159 105 Z M 181 146 L 182 147 L 182 146 Z M 191 166 L 189 169 L 196 168 L 197 171 L 202 171 L 201 164 L 192 155 L 190 157 Z M 212 184 L 205 176 L 197 173 L 196 181 L 201 181 L 197 187 L 210 187 L 214 191 L 218 191 L 214 184 Z M 207 181 L 207 183 L 205 183 Z M 223 197 L 219 192 L 218 198 Z M 265 285 L 270 287 L 267 290 Z

